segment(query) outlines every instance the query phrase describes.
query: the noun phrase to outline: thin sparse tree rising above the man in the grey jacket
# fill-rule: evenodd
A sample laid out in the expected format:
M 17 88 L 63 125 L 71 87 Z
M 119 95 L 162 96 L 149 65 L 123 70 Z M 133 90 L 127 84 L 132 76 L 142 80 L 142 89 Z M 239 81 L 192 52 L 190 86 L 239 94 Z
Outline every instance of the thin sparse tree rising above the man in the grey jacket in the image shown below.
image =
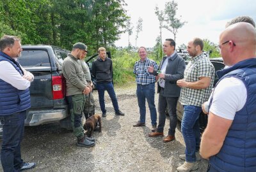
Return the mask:
M 176 18 L 176 11 L 178 4 L 175 1 L 165 3 L 164 13 L 166 18 L 164 21 L 167 23 L 164 28 L 173 33 L 173 39 L 176 40 L 178 29 L 181 28 L 186 22 L 181 22 Z M 181 16 L 180 16 L 181 17 Z

